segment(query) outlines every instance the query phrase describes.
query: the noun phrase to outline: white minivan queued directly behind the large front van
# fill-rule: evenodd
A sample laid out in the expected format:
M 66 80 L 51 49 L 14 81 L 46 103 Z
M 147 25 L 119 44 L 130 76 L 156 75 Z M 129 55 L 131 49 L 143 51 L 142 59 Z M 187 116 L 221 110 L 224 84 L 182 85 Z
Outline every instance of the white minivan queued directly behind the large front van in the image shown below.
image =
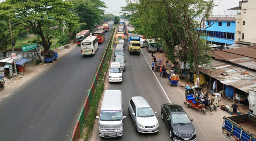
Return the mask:
M 108 81 L 109 82 L 122 82 L 122 70 L 119 62 L 111 62 L 111 67 L 109 72 Z

